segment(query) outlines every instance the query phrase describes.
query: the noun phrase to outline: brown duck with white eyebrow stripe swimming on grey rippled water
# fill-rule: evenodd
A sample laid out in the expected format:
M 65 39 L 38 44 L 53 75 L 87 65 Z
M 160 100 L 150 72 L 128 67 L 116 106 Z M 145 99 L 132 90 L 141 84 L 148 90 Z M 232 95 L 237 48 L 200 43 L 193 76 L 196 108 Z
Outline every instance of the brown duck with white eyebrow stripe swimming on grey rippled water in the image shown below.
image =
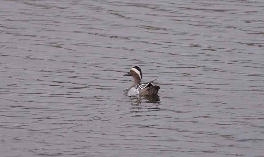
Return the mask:
M 132 76 L 134 79 L 134 83 L 132 86 L 128 89 L 128 96 L 134 96 L 134 95 L 146 95 L 146 96 L 152 96 L 152 95 L 158 95 L 158 91 L 160 89 L 159 86 L 152 85 L 151 82 L 155 81 L 149 81 L 145 84 L 141 84 L 140 81 L 142 79 L 142 72 L 141 69 L 138 66 L 135 66 L 130 69 L 130 71 L 123 75 L 123 76 Z

